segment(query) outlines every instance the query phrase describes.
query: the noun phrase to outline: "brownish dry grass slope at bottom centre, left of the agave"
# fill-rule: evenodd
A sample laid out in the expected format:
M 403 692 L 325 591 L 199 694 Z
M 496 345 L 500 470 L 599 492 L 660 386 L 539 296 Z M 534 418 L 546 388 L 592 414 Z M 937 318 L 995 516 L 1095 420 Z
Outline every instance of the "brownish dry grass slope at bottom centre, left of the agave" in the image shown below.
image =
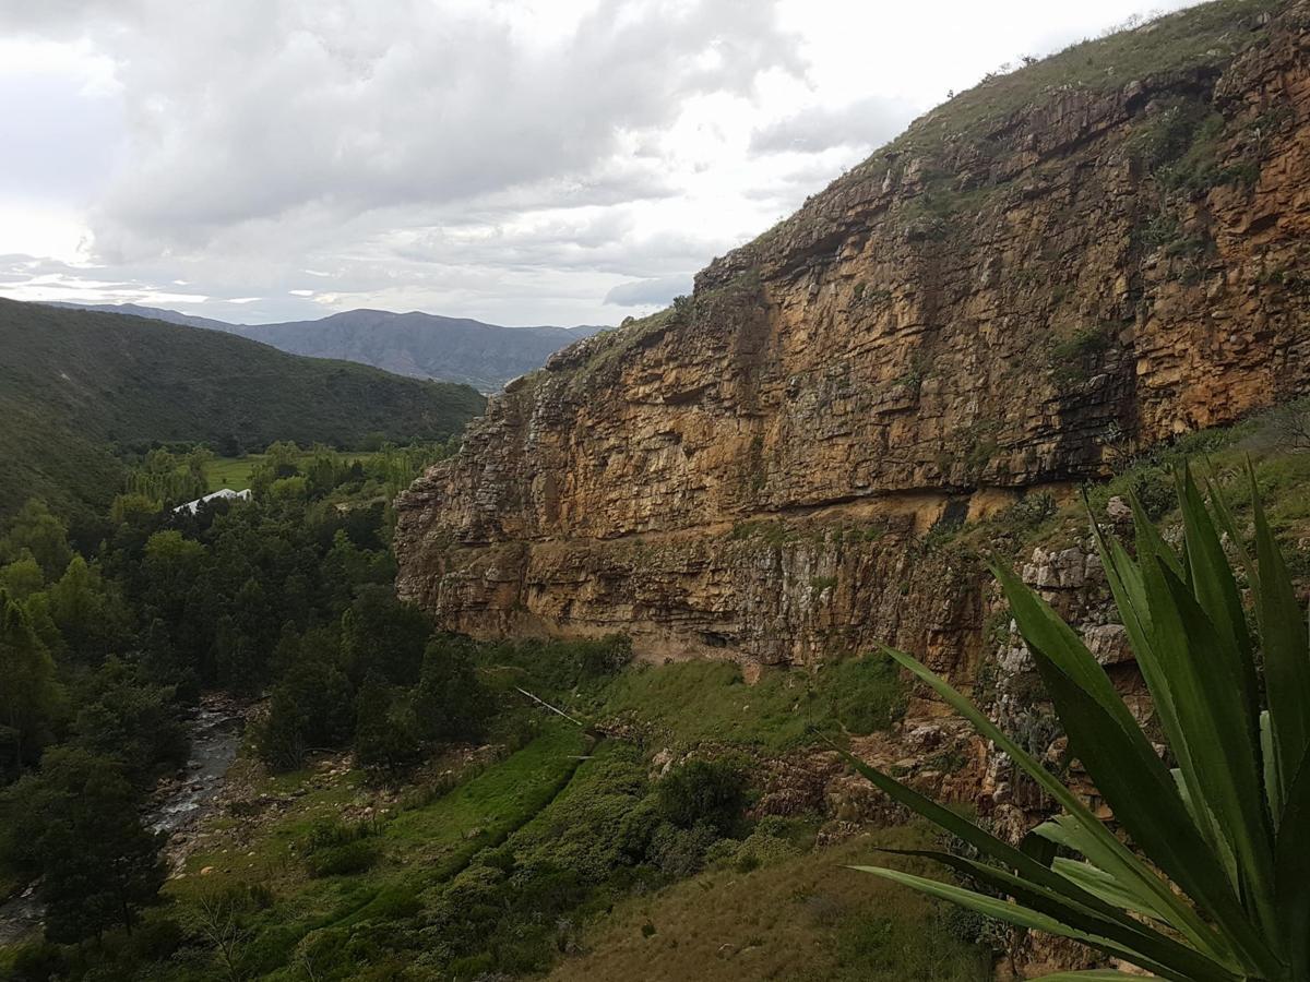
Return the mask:
M 989 958 L 952 937 L 925 898 L 854 872 L 900 860 L 878 846 L 930 841 L 879 829 L 748 873 L 717 869 L 617 905 L 549 978 L 642 982 L 980 982 Z M 905 868 L 929 872 L 910 862 Z

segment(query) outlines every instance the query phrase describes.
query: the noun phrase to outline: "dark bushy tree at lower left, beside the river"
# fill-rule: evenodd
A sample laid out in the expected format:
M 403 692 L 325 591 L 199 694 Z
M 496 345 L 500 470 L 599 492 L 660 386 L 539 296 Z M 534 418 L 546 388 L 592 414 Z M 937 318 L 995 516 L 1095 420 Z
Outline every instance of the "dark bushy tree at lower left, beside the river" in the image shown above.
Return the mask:
M 117 924 L 131 931 L 140 907 L 155 902 L 165 879 L 162 835 L 141 825 L 118 761 L 54 748 L 3 805 L 13 816 L 5 859 L 41 877 L 50 940 L 100 937 Z

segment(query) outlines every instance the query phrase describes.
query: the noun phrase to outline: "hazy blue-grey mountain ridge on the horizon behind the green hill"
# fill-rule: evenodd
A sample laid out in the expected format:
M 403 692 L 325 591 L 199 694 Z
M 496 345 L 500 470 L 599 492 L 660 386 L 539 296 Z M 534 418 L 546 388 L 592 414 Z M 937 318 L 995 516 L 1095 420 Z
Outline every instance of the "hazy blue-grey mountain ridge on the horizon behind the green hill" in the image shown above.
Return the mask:
M 464 382 L 483 393 L 499 390 L 511 378 L 540 368 L 561 348 L 604 330 L 593 326 L 502 327 L 417 310 L 406 314 L 347 310 L 317 321 L 236 325 L 130 304 L 86 309 L 210 327 L 262 340 L 295 355 L 345 359 L 415 378 Z

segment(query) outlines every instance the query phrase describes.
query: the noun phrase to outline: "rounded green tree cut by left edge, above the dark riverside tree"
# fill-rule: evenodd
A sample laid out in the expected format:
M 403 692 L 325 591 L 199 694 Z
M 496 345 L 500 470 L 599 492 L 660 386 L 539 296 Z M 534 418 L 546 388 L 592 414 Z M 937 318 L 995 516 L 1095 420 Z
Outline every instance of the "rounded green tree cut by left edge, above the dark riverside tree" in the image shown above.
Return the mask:
M 35 763 L 63 708 L 55 663 L 28 611 L 0 591 L 0 778 Z

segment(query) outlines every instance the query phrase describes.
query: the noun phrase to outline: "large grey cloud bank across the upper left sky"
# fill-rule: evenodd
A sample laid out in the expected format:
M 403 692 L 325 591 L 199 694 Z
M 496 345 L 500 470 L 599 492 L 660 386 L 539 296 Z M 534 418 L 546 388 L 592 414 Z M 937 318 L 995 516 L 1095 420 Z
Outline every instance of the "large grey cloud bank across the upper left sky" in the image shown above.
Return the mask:
M 80 14 L 119 64 L 134 165 L 94 223 L 117 258 L 200 249 L 308 207 L 359 213 L 561 177 L 575 200 L 605 199 L 604 175 L 590 182 L 621 134 L 665 126 L 697 94 L 749 93 L 762 71 L 803 71 L 773 4 L 752 0 L 607 3 L 546 48 L 424 0 L 124 0 L 45 20 L 30 7 L 5 3 L 0 25 L 68 34 Z

